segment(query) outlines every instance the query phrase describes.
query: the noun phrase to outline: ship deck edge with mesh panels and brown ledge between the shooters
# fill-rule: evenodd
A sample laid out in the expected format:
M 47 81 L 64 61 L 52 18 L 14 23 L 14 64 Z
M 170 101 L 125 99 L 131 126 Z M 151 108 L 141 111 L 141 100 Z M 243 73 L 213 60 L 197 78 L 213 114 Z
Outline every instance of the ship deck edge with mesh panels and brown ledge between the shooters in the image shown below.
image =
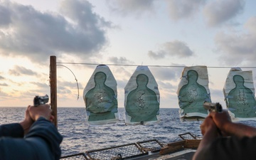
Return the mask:
M 180 141 L 163 144 L 156 139 L 132 144 L 112 146 L 104 149 L 94 149 L 79 154 L 62 156 L 60 159 L 86 160 L 175 160 L 192 159 L 201 139 L 191 133 L 179 134 Z M 186 138 L 184 138 L 186 137 Z M 190 137 L 190 138 L 188 138 Z

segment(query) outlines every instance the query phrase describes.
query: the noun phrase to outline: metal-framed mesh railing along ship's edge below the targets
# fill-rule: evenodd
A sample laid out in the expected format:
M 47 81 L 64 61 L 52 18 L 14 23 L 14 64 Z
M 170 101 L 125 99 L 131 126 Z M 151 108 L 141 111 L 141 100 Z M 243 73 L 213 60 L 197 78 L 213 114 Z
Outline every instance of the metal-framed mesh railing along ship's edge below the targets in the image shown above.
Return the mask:
M 201 142 L 199 137 L 196 137 L 190 132 L 178 134 L 181 141 L 164 144 L 156 139 L 151 139 L 132 144 L 124 144 L 120 146 L 112 146 L 104 149 L 94 149 L 85 151 L 80 154 L 72 154 L 62 156 L 61 160 L 121 160 L 134 159 L 139 156 L 146 156 L 149 153 L 159 152 L 159 155 L 170 154 L 183 149 L 196 149 Z

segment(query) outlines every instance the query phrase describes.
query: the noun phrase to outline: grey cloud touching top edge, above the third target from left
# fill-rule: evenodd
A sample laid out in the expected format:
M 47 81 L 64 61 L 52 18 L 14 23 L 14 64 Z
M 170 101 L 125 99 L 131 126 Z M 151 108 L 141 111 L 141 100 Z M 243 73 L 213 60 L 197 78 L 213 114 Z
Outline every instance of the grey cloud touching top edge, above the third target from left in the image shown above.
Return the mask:
M 200 11 L 205 1 L 206 0 L 166 0 L 166 3 L 168 4 L 171 19 L 177 21 L 183 18 L 191 18 L 191 16 Z

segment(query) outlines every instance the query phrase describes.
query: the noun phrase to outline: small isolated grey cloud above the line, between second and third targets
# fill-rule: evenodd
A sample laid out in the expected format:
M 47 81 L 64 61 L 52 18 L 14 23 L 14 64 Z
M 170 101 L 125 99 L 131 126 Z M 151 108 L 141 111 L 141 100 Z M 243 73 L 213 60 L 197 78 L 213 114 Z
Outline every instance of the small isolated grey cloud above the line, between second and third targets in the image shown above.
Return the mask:
M 150 50 L 148 55 L 156 60 L 166 58 L 166 56 L 188 58 L 193 55 L 193 51 L 182 41 L 172 41 L 162 44 L 156 52 Z

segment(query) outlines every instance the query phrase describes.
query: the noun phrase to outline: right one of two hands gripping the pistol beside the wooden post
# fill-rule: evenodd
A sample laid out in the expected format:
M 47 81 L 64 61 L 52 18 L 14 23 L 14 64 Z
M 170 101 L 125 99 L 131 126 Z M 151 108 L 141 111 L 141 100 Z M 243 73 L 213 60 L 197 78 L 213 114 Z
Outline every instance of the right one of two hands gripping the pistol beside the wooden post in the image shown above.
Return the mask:
M 50 110 L 50 105 L 39 105 L 37 107 L 31 106 L 28 108 L 28 111 L 34 121 L 36 121 L 39 117 L 44 117 L 50 122 L 53 122 L 54 120 L 54 117 L 51 114 L 52 110 Z

